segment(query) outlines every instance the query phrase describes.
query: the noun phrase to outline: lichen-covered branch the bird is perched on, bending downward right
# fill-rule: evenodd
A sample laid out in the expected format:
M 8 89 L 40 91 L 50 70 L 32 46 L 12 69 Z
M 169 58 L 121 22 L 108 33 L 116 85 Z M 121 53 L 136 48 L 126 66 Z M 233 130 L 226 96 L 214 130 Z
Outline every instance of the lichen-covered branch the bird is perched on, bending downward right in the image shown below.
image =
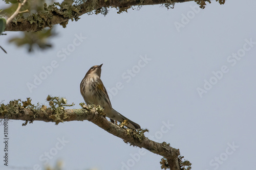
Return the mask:
M 148 139 L 144 136 L 144 133 L 147 132 L 146 129 L 135 131 L 124 128 L 125 122 L 120 125 L 109 122 L 104 116 L 103 108 L 100 106 L 81 104 L 82 109 L 65 109 L 66 106 L 73 106 L 73 104 L 67 105 L 66 99 L 48 96 L 47 101 L 50 107 L 39 104 L 32 105 L 30 98 L 25 102 L 14 100 L 7 105 L 1 104 L 0 118 L 8 117 L 8 119 L 25 120 L 26 122 L 23 125 L 35 120 L 55 122 L 56 124 L 74 120 L 89 120 L 112 135 L 123 139 L 126 143 L 163 156 L 160 162 L 162 168 L 181 170 L 185 167 L 182 163 L 186 160 L 181 160 L 182 157 L 178 149 L 170 147 L 166 142 L 158 143 Z M 186 166 L 187 169 L 190 169 L 190 164 Z

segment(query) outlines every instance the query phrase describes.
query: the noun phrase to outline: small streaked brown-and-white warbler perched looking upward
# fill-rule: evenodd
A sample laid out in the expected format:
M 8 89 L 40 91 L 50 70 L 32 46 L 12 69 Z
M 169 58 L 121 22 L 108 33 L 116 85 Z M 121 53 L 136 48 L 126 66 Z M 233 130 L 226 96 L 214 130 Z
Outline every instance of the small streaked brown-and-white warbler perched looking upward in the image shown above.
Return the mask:
M 83 96 L 86 104 L 95 104 L 100 105 L 104 108 L 104 113 L 107 117 L 110 118 L 111 122 L 114 123 L 114 120 L 118 122 L 123 122 L 123 120 L 127 120 L 128 124 L 126 127 L 131 129 L 140 129 L 140 126 L 134 123 L 132 120 L 126 118 L 115 109 L 112 108 L 110 98 L 108 92 L 106 92 L 106 88 L 104 87 L 101 79 L 101 66 L 95 65 L 92 66 L 88 71 L 86 76 L 82 79 L 80 83 L 80 92 Z

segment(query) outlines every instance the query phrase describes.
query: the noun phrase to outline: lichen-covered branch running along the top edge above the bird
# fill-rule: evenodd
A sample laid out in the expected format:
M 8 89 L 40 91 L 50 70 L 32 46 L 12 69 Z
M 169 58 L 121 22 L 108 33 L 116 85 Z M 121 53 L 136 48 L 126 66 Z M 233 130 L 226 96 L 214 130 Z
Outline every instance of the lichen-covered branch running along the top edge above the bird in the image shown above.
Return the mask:
M 210 0 L 79 0 L 80 3 L 74 5 L 73 0 L 64 0 L 61 4 L 54 3 L 47 6 L 45 4 L 43 11 L 38 11 L 28 17 L 16 17 L 6 25 L 5 31 L 40 31 L 43 28 L 51 28 L 54 25 L 60 24 L 66 27 L 69 19 L 78 20 L 79 16 L 95 10 L 95 13 L 108 12 L 107 8 L 118 8 L 119 13 L 126 11 L 132 6 L 157 5 L 164 4 L 169 7 L 169 4 L 184 3 L 195 1 L 201 8 L 205 6 L 205 1 L 210 3 Z M 216 0 L 219 3 L 225 0 Z

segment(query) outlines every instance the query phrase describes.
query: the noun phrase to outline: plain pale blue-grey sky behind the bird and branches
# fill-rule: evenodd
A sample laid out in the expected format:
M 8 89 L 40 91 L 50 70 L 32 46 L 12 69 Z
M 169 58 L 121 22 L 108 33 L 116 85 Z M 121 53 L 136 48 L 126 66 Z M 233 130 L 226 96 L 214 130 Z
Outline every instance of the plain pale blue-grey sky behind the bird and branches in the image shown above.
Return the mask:
M 33 104 L 47 104 L 51 94 L 80 108 L 82 78 L 91 66 L 103 63 L 101 80 L 113 108 L 150 130 L 146 136 L 180 149 L 192 169 L 252 169 L 255 6 L 256 1 L 212 1 L 201 10 L 188 2 L 170 10 L 155 5 L 122 14 L 110 9 L 105 17 L 84 14 L 77 22 L 69 21 L 66 29 L 55 27 L 54 46 L 34 53 L 9 44 L 19 33 L 7 32 L 0 41 L 8 52 L 0 51 L 0 101 L 31 98 Z M 86 38 L 72 48 L 77 36 Z M 44 67 L 52 62 L 55 68 L 29 90 L 27 84 L 44 75 Z M 127 78 L 127 70 L 133 70 L 134 77 Z M 122 88 L 114 94 L 118 82 Z M 161 156 L 130 147 L 86 120 L 58 126 L 23 123 L 8 123 L 9 167 L 2 160 L 0 169 L 44 169 L 46 152 L 52 154 L 49 164 L 62 160 L 63 169 L 161 169 Z M 62 139 L 66 142 L 61 144 Z M 3 150 L 1 142 L 2 159 Z

